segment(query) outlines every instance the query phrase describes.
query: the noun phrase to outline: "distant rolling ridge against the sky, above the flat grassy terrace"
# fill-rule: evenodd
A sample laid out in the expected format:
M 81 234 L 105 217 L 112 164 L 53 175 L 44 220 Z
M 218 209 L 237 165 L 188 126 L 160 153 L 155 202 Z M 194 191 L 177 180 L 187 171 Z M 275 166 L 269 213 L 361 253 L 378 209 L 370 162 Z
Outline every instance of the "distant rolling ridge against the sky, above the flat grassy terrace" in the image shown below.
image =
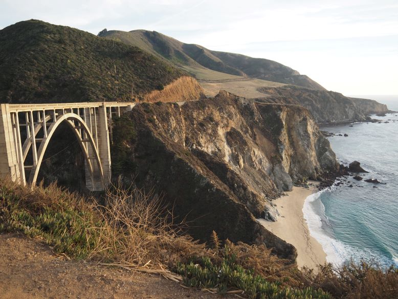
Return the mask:
M 124 32 L 112 30 L 103 31 L 99 35 L 139 47 L 174 63 L 175 66 L 194 74 L 197 79 L 201 80 L 249 77 L 296 84 L 311 89 L 324 89 L 307 76 L 300 75 L 299 72 L 276 61 L 211 51 L 199 45 L 184 44 L 156 31 L 133 30 Z

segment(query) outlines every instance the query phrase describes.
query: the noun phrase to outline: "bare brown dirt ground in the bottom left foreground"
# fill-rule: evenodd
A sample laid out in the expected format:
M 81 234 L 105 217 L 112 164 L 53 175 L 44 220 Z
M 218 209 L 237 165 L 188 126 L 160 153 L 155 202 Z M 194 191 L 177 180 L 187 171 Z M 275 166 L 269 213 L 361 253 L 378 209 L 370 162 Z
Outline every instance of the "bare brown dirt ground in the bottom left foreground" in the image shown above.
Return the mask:
M 0 297 L 221 298 L 184 289 L 159 275 L 65 261 L 19 234 L 0 234 Z

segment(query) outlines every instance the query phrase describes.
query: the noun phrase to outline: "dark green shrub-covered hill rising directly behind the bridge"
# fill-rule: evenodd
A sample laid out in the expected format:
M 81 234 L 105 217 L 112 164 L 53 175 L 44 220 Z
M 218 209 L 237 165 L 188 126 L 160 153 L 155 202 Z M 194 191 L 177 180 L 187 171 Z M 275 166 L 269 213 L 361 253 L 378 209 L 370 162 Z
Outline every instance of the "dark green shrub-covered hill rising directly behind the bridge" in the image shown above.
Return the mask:
M 131 101 L 186 75 L 137 47 L 39 20 L 0 30 L 0 102 Z

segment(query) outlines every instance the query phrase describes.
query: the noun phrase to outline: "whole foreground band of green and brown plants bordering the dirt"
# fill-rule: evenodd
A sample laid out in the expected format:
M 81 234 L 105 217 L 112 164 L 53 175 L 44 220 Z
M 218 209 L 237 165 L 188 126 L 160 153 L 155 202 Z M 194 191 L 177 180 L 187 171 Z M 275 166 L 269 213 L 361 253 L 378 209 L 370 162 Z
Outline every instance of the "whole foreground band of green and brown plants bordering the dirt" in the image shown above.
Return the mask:
M 0 232 L 23 233 L 72 259 L 159 270 L 187 287 L 249 298 L 392 298 L 397 291 L 394 267 L 299 270 L 263 245 L 219 240 L 215 232 L 207 244 L 194 241 L 172 219 L 161 199 L 135 188 L 113 187 L 98 200 L 55 184 L 31 190 L 0 180 Z

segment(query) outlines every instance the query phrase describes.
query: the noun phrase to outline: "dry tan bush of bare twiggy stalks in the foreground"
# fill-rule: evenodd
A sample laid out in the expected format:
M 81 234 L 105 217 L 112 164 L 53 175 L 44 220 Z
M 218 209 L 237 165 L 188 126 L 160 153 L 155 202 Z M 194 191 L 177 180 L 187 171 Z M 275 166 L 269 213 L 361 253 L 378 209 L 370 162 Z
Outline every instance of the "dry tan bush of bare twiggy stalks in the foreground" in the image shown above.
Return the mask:
M 100 242 L 89 259 L 163 268 L 206 250 L 180 235 L 181 224 L 173 224 L 172 211 L 152 191 L 113 186 L 106 191 L 105 204 L 97 208 L 104 225 L 97 228 Z

